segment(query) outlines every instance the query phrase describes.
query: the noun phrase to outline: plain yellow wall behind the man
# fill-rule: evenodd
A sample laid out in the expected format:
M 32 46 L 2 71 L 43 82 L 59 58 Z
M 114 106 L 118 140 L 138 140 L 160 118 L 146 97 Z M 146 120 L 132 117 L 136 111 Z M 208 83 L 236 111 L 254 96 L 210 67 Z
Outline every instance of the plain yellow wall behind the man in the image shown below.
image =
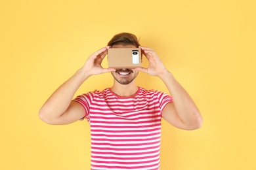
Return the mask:
M 163 121 L 161 169 L 256 169 L 255 14 L 249 0 L 2 0 L 0 169 L 90 169 L 87 121 L 50 126 L 38 110 L 123 31 L 156 50 L 204 118 L 196 131 Z M 93 76 L 76 95 L 112 82 Z M 137 84 L 167 92 L 144 73 Z

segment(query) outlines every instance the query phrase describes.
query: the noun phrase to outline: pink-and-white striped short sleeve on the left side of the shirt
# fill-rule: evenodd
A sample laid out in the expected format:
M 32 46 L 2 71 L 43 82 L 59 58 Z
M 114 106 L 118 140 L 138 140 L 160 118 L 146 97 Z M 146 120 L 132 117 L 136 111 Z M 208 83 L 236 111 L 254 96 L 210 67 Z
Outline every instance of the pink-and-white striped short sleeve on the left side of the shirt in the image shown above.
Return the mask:
M 75 99 L 73 99 L 73 101 L 79 103 L 80 105 L 83 106 L 83 109 L 85 109 L 85 116 L 81 118 L 81 120 L 87 119 L 89 121 L 89 117 L 90 117 L 89 110 L 90 110 L 91 101 L 93 101 L 93 97 L 94 97 L 94 93 L 88 92 L 82 95 L 78 95 L 77 97 L 75 97 Z

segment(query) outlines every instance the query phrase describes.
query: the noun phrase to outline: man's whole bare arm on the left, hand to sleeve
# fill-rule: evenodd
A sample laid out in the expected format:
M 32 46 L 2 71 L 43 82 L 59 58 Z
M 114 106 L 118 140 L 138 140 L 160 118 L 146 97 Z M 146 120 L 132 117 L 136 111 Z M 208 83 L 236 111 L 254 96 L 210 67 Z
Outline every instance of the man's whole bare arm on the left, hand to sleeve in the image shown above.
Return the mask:
M 48 124 L 70 124 L 85 116 L 83 107 L 74 101 L 75 92 L 91 75 L 98 75 L 114 71 L 101 67 L 101 62 L 107 54 L 109 46 L 101 48 L 87 59 L 85 65 L 71 78 L 62 84 L 47 99 L 39 110 L 39 118 Z

